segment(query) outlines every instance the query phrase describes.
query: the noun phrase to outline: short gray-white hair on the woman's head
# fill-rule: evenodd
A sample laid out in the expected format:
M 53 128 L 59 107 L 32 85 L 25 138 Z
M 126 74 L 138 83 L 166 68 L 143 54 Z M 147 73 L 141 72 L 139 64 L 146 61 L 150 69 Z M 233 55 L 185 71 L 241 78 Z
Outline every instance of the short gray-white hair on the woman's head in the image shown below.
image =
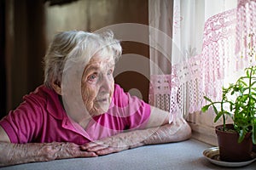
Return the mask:
M 85 31 L 63 31 L 55 35 L 44 56 L 44 85 L 61 84 L 61 77 L 68 60 L 88 63 L 94 54 L 112 54 L 117 61 L 122 53 L 120 42 L 112 31 L 102 34 Z

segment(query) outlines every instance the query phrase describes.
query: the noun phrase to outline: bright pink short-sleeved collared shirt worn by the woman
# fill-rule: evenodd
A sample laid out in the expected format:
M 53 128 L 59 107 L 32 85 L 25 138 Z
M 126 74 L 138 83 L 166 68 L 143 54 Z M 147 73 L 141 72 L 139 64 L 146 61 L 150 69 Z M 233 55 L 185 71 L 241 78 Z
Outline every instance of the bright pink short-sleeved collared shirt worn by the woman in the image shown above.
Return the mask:
M 23 99 L 15 111 L 9 111 L 0 121 L 12 143 L 84 144 L 125 130 L 143 128 L 150 116 L 148 104 L 125 93 L 116 84 L 108 112 L 94 116 L 85 130 L 67 116 L 54 90 L 42 85 Z

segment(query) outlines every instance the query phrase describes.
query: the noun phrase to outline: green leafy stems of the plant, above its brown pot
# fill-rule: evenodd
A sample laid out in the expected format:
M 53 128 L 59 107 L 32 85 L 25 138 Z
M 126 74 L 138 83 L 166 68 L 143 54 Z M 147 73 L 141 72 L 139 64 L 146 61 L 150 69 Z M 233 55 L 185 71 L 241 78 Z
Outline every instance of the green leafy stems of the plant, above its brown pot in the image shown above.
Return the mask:
M 224 127 L 226 116 L 230 116 L 239 134 L 238 142 L 244 139 L 246 133 L 251 132 L 253 144 L 256 144 L 256 65 L 246 68 L 245 73 L 246 76 L 239 77 L 236 83 L 222 88 L 220 101 L 212 101 L 204 96 L 208 104 L 201 111 L 206 112 L 212 107 L 216 114 L 213 121 L 217 122 L 222 117 Z

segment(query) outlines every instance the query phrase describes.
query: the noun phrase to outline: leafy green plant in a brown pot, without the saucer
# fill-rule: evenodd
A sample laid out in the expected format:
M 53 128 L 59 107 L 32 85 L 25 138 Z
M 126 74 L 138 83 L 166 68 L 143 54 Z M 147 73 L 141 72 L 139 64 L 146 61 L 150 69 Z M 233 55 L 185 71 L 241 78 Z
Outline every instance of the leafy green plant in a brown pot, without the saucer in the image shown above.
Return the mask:
M 223 124 L 215 127 L 222 161 L 248 161 L 256 144 L 256 65 L 246 68 L 245 73 L 223 88 L 220 101 L 205 96 L 208 104 L 201 108 L 203 112 L 213 108 L 214 122 L 223 119 Z M 233 123 L 226 123 L 228 117 Z

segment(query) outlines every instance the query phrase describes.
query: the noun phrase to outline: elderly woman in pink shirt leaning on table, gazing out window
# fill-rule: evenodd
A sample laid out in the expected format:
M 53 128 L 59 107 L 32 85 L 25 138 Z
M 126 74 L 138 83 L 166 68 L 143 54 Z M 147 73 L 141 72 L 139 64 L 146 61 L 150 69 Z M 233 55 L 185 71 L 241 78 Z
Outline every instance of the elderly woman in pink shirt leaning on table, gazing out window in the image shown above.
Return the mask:
M 44 85 L 0 122 L 0 165 L 103 156 L 144 144 L 189 139 L 183 117 L 114 84 L 121 46 L 104 34 L 64 31 L 44 58 Z

